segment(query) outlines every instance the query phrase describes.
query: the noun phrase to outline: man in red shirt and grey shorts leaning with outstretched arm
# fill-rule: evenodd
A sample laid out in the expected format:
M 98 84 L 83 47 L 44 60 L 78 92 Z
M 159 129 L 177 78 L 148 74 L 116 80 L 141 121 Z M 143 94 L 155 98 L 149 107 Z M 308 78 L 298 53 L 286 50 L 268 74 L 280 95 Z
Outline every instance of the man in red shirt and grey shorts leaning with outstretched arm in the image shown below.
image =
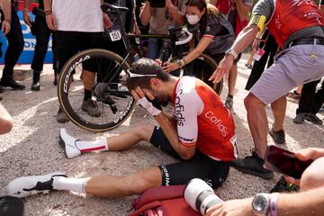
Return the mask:
M 224 74 L 229 73 L 238 53 L 247 48 L 258 31 L 264 31 L 266 23 L 278 46 L 284 50 L 245 98 L 255 152 L 252 156 L 236 160 L 233 166 L 249 174 L 272 178 L 274 173 L 263 167 L 268 131 L 266 105 L 287 94 L 293 87 L 324 76 L 324 17 L 313 1 L 260 0 L 253 10 L 251 22 L 238 35 L 211 80 L 219 82 Z

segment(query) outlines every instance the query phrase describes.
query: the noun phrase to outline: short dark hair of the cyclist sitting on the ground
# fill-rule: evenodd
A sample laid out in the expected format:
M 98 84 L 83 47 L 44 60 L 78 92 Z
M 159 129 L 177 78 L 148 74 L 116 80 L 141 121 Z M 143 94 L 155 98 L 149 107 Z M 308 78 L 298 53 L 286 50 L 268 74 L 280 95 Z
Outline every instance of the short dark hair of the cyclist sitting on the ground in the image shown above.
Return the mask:
M 144 77 L 131 77 L 127 78 L 127 87 L 129 90 L 135 89 L 136 87 L 150 89 L 150 79 L 157 77 L 162 82 L 170 80 L 170 75 L 167 74 L 160 65 L 153 59 L 140 58 L 134 62 L 130 67 L 130 73 L 138 75 L 156 75 L 156 76 L 144 76 Z

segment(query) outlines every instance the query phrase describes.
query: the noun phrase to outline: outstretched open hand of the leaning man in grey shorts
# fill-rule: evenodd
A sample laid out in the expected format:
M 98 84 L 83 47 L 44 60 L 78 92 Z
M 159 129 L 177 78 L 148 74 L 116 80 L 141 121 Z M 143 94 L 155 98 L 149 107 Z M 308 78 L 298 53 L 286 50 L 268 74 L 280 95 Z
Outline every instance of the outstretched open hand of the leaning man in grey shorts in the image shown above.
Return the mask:
M 223 76 L 226 78 L 229 76 L 230 67 L 233 66 L 234 58 L 232 55 L 227 55 L 225 58 L 222 58 L 220 65 L 216 68 L 215 72 L 209 78 L 209 81 L 212 83 L 219 83 Z

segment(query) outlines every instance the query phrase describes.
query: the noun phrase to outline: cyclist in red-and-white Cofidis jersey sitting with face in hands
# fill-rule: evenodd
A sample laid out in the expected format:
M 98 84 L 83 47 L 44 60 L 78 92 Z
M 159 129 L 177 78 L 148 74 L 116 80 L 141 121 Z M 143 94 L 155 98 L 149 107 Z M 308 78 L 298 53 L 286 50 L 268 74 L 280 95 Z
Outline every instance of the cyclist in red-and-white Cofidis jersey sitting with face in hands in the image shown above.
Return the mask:
M 98 141 L 80 141 L 61 129 L 60 139 L 67 158 L 95 149 L 119 151 L 146 140 L 180 162 L 151 166 L 126 176 L 21 177 L 8 184 L 4 192 L 23 197 L 55 189 L 112 198 L 143 193 L 160 185 L 186 184 L 195 177 L 204 179 L 213 188 L 220 186 L 228 176 L 229 162 L 237 156 L 234 121 L 220 97 L 195 77 L 168 75 L 153 59 L 139 59 L 128 75 L 131 94 L 154 116 L 159 127 L 140 125 Z M 174 118 L 162 111 L 158 101 L 162 105 L 173 104 Z

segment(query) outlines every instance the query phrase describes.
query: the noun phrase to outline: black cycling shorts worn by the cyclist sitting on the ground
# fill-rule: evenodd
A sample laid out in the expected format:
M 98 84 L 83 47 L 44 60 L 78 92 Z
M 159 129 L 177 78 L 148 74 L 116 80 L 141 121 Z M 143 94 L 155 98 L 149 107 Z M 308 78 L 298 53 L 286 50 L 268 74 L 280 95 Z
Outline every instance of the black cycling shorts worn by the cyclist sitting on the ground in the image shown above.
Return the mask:
M 198 150 L 191 159 L 183 160 L 172 148 L 163 130 L 159 127 L 154 128 L 149 142 L 166 154 L 181 160 L 175 164 L 158 166 L 164 186 L 187 184 L 193 178 L 201 178 L 212 188 L 217 188 L 229 175 L 229 162 L 211 159 Z

